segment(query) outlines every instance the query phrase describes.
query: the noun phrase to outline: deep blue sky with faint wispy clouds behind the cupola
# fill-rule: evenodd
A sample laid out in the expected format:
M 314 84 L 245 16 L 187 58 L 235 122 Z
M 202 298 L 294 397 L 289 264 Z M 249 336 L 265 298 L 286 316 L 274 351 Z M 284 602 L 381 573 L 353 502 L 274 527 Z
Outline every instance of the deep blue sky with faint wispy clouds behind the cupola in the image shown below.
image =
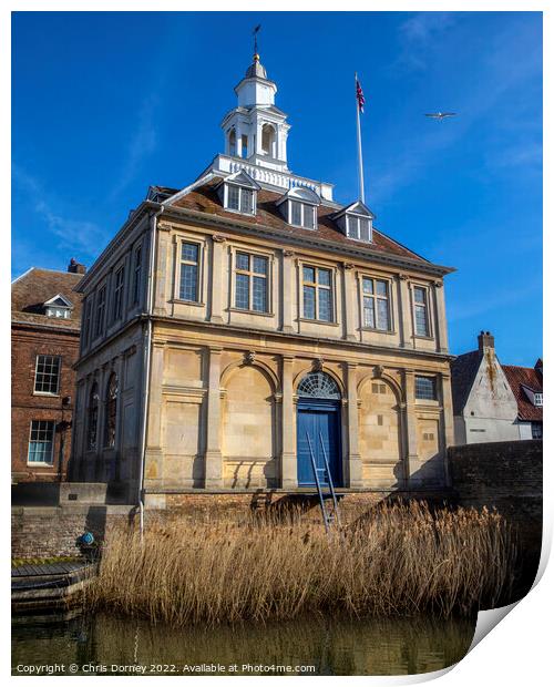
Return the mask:
M 447 278 L 453 353 L 542 355 L 542 17 L 532 12 L 19 12 L 12 274 L 91 265 L 147 186 L 223 152 L 252 58 L 293 125 L 289 166 L 358 195 L 353 72 L 376 226 Z M 423 113 L 458 116 L 438 122 Z

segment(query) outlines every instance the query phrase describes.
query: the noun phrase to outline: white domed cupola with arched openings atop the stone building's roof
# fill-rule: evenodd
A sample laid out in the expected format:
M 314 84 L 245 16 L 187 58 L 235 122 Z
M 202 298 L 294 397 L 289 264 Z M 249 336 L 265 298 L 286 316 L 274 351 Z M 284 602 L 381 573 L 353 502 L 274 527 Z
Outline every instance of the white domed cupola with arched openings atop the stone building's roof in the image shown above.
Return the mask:
M 287 115 L 275 105 L 277 84 L 267 78 L 257 52 L 244 79 L 235 86 L 237 106 L 223 120 L 225 154 L 250 164 L 288 172 Z

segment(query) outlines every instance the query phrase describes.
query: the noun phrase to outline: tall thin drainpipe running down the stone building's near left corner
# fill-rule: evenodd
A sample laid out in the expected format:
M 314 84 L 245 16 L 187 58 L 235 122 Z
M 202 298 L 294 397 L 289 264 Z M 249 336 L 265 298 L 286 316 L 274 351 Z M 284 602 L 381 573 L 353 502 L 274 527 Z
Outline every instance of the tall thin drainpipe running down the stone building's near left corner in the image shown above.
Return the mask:
M 146 460 L 146 430 L 148 414 L 148 396 L 150 396 L 150 368 L 152 359 L 152 315 L 154 310 L 154 269 L 156 266 L 156 228 L 157 218 L 164 212 L 165 206 L 162 205 L 157 213 L 152 215 L 151 238 L 150 238 L 150 263 L 148 263 L 148 281 L 146 289 L 146 335 L 144 337 L 144 392 L 143 392 L 143 412 L 141 428 L 141 462 L 138 470 L 138 512 L 141 541 L 144 536 L 144 463 Z

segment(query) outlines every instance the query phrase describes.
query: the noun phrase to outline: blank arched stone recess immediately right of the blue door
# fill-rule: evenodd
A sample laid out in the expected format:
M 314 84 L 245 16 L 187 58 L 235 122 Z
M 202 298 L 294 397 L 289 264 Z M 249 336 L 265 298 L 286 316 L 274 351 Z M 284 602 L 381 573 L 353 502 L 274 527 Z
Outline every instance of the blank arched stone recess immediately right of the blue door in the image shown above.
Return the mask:
M 388 375 L 358 386 L 359 450 L 367 486 L 399 485 L 404 479 L 402 390 Z

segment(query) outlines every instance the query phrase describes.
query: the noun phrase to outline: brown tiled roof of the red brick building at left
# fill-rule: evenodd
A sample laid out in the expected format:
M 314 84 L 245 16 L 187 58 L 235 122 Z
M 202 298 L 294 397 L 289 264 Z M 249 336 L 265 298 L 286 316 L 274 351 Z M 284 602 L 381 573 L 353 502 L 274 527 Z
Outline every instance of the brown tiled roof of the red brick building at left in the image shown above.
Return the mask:
M 81 328 L 82 295 L 73 288 L 83 275 L 71 271 L 55 271 L 32 267 L 11 285 L 11 319 L 35 325 L 48 325 L 60 329 Z M 43 304 L 58 294 L 71 301 L 73 309 L 70 319 L 47 317 Z

